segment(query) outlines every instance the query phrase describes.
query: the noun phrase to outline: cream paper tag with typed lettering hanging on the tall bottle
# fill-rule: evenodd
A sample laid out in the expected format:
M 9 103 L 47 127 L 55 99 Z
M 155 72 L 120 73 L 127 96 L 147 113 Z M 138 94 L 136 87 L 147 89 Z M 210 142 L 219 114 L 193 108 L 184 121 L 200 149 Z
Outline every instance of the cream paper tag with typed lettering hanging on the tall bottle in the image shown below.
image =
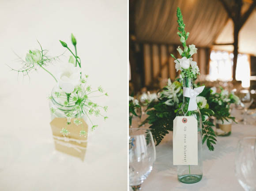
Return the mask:
M 197 120 L 177 116 L 173 120 L 173 165 L 198 165 Z

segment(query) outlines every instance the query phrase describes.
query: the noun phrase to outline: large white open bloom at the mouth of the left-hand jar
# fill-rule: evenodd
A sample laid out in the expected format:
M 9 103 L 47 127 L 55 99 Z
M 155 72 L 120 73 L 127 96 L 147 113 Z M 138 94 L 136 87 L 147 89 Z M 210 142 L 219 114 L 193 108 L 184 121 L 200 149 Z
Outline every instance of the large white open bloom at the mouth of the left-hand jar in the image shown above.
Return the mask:
M 57 74 L 57 80 L 60 88 L 68 94 L 72 93 L 75 86 L 80 83 L 80 72 L 80 68 L 75 67 L 74 64 L 61 64 Z

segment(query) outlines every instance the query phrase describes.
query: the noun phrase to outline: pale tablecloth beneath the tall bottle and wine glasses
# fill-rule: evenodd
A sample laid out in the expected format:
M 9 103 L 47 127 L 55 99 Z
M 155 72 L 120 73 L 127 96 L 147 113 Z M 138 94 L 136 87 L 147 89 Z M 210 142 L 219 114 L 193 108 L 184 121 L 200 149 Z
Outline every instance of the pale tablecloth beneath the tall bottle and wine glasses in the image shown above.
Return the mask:
M 232 134 L 217 137 L 214 151 L 203 145 L 203 179 L 195 184 L 184 184 L 177 180 L 173 166 L 172 132 L 169 141 L 156 147 L 156 162 L 151 174 L 142 184 L 144 191 L 243 191 L 235 176 L 234 160 L 239 139 L 256 136 L 256 126 L 233 124 Z M 168 139 L 167 138 L 167 139 Z M 166 139 L 166 140 L 167 140 Z

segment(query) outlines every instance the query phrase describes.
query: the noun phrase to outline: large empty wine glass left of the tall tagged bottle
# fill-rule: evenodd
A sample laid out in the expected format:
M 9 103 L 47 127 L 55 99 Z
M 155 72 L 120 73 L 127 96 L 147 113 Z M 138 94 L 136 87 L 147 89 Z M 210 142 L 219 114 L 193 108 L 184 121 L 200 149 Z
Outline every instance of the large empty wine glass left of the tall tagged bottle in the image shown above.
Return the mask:
M 141 189 L 141 184 L 153 169 L 155 161 L 154 140 L 149 129 L 129 129 L 129 186 L 133 191 Z

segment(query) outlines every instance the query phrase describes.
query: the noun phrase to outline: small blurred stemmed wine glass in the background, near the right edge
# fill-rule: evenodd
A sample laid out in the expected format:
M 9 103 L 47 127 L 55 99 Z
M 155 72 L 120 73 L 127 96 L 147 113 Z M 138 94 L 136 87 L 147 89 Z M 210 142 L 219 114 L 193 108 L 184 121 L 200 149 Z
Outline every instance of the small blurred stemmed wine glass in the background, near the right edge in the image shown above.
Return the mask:
M 251 97 L 249 90 L 241 90 L 240 99 L 241 99 L 241 106 L 244 109 L 243 123 L 247 124 L 247 121 L 246 121 L 247 111 L 248 111 L 248 108 L 252 105 L 253 98 Z

